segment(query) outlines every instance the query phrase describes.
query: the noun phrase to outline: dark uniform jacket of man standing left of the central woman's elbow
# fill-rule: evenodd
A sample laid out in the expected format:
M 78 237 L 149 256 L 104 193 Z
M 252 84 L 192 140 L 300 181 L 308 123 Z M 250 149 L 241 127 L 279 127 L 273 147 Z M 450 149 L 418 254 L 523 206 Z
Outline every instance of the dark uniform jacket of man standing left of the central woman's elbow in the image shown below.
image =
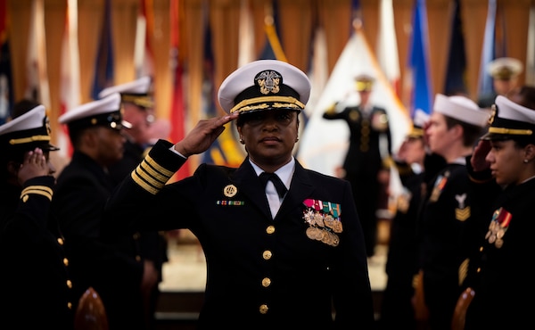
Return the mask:
M 113 190 L 104 169 L 84 153 L 73 153 L 58 176 L 53 213 L 69 244 L 77 291 L 93 286 L 103 299 L 110 329 L 144 329 L 140 285 L 144 264 L 136 260 L 136 237 L 104 242 L 101 220 Z

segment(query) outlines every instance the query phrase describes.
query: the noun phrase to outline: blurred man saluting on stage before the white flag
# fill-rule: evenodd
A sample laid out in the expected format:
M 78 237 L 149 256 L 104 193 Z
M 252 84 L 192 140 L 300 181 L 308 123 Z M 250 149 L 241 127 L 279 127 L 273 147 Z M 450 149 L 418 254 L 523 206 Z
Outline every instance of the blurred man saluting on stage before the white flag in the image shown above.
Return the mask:
M 364 230 L 366 254 L 374 256 L 377 243 L 378 211 L 388 210 L 391 167 L 391 128 L 385 109 L 371 103 L 374 78 L 355 78 L 359 103 L 343 100 L 333 104 L 325 120 L 345 120 L 350 128 L 350 146 L 340 177 L 350 181 Z

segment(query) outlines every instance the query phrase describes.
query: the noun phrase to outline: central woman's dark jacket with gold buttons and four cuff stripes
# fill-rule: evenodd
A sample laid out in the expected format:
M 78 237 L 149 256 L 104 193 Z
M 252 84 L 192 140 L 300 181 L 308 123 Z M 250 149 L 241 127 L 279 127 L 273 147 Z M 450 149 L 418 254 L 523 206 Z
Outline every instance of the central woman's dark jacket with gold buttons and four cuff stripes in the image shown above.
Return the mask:
M 193 177 L 164 186 L 185 163 L 171 146 L 155 144 L 111 195 L 103 230 L 189 228 L 197 236 L 208 272 L 200 328 L 374 327 L 363 235 L 348 182 L 296 161 L 292 186 L 272 219 L 247 159 L 238 169 L 202 164 Z M 342 207 L 336 246 L 307 236 L 307 199 Z M 134 213 L 144 219 L 130 217 Z

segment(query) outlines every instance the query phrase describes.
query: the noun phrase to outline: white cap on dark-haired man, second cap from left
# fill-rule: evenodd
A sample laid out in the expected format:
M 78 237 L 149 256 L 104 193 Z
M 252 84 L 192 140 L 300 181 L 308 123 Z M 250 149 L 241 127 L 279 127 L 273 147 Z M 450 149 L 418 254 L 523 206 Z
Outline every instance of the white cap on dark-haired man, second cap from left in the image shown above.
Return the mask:
M 131 125 L 122 119 L 122 108 L 119 93 L 113 93 L 104 98 L 78 105 L 63 113 L 60 123 L 66 124 L 70 131 L 104 126 L 120 130 L 130 128 Z

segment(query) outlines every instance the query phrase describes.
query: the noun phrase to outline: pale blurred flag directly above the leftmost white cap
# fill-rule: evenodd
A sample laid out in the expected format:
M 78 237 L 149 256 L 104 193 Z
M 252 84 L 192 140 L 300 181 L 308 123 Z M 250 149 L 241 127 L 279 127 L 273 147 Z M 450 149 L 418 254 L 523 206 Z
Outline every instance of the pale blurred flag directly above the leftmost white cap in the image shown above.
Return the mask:
M 46 73 L 45 9 L 43 0 L 34 0 L 28 39 L 27 85 L 24 97 L 50 109 L 50 90 Z

